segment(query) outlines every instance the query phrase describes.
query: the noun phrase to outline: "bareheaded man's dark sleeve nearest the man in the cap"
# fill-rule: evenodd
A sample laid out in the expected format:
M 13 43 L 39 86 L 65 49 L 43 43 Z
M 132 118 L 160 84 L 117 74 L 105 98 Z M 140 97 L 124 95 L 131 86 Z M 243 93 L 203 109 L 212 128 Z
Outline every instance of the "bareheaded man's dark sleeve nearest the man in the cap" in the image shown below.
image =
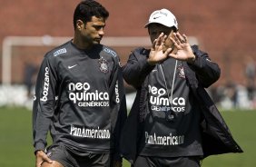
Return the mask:
M 120 60 L 116 57 L 112 82 L 110 84 L 111 117 L 113 129 L 114 160 L 122 160 L 120 153 L 120 138 L 123 124 L 127 118 L 125 91 L 123 85 L 123 73 Z

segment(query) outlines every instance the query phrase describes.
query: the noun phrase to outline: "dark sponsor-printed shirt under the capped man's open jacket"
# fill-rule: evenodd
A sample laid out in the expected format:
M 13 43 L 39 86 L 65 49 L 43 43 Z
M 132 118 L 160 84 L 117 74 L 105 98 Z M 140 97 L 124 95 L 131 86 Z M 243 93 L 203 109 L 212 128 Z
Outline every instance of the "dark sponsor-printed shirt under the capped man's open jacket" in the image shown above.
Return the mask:
M 147 110 L 139 154 L 202 155 L 199 104 L 186 83 L 182 61 L 169 58 L 156 64 L 147 83 Z

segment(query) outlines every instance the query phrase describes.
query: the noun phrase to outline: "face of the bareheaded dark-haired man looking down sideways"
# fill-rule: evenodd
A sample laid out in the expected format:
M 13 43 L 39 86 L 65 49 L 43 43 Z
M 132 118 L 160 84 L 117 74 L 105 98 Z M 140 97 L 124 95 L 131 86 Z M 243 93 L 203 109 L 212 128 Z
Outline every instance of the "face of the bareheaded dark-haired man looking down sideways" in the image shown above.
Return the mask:
M 103 38 L 105 19 L 93 16 L 92 21 L 83 24 L 81 40 L 84 44 L 100 44 Z

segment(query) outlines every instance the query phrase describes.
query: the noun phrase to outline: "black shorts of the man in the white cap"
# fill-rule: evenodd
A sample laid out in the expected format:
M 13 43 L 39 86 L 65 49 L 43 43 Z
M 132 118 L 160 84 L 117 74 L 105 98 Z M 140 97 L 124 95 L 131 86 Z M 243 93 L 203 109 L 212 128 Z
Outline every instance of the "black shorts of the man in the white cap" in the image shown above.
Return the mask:
M 132 167 L 200 167 L 200 158 L 191 157 L 150 157 L 138 156 Z

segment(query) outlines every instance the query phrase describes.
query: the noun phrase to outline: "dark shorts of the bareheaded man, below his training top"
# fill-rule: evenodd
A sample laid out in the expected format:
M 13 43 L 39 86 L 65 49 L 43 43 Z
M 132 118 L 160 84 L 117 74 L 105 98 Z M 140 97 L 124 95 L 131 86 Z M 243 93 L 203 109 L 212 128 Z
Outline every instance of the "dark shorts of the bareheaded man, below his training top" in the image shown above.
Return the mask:
M 50 146 L 46 151 L 47 156 L 64 167 L 110 167 L 110 153 L 84 153 L 79 156 L 69 151 L 64 145 Z

